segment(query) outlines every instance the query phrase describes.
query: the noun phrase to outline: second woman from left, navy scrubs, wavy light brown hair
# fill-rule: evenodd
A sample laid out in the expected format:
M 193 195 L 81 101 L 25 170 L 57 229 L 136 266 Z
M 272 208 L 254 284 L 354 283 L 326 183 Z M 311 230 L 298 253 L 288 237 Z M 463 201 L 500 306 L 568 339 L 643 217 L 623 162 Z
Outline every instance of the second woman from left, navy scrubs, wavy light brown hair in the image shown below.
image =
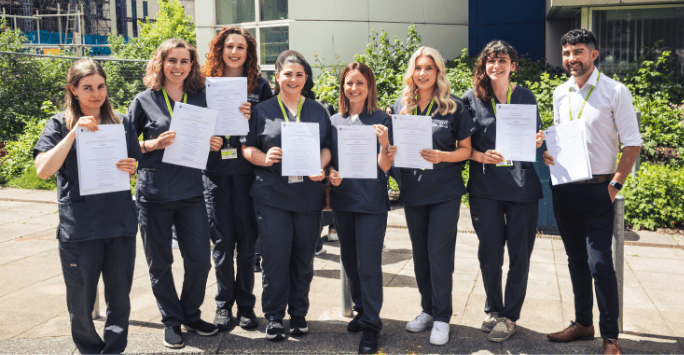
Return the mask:
M 202 172 L 162 163 L 164 149 L 173 144 L 176 135 L 169 131 L 173 105 L 184 102 L 207 106 L 195 47 L 181 39 L 162 43 L 147 64 L 143 83 L 149 89 L 136 95 L 128 108 L 136 132 L 143 135 L 143 158 L 135 187 L 138 222 L 152 292 L 164 323 L 164 345 L 180 348 L 184 345 L 181 324 L 203 336 L 218 332 L 215 325 L 200 318 L 199 309 L 211 269 Z M 217 151 L 221 143 L 220 138 L 212 137 L 211 149 Z M 180 298 L 171 272 L 173 225 L 185 269 Z

